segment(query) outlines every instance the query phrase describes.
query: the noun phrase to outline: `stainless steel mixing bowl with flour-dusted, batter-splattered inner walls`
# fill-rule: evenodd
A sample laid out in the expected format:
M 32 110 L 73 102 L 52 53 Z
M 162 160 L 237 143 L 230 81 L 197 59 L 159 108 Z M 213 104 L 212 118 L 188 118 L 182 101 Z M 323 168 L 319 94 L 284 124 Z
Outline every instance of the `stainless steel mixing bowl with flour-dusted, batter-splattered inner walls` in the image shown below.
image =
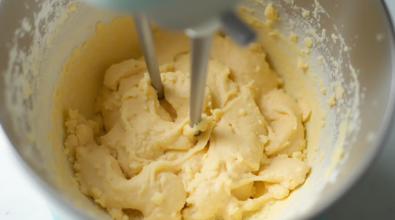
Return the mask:
M 277 0 L 275 5 L 284 18 L 299 18 L 301 9 L 289 2 L 293 1 Z M 315 27 L 325 28 L 328 35 L 341 35 L 337 44 L 330 36 L 326 37 L 326 47 L 317 48 L 316 52 L 335 58 L 329 62 L 329 67 L 340 61 L 337 70 L 343 75 L 340 82 L 345 89 L 344 102 L 339 103 L 337 112 L 336 108 L 325 107 L 325 98 L 320 96 L 328 112 L 327 132 L 319 143 L 320 151 L 326 152 L 325 157 L 312 167 L 308 181 L 292 193 L 287 199 L 287 211 L 276 219 L 316 218 L 335 203 L 370 166 L 387 140 L 394 115 L 395 43 L 385 4 L 379 0 L 322 0 L 320 3 L 325 11 L 313 18 L 315 1 L 295 1 L 297 6 L 310 10 L 310 21 L 315 22 Z M 69 4 L 69 0 L 1 0 L 0 122 L 15 154 L 33 182 L 43 189 L 55 213 L 64 219 L 109 219 L 78 190 L 71 189 L 71 174 L 70 178 L 59 175 L 63 170 L 58 168 L 60 161 L 54 155 L 61 152 L 62 134 L 55 137 L 57 144 L 53 144 L 50 140 L 54 137 L 49 136 L 53 123 L 62 123 L 62 120 L 51 118 L 51 93 L 61 64 L 71 52 L 71 47 L 64 50 L 56 47 L 82 43 L 92 32 L 88 31 L 88 26 L 99 19 L 109 21 L 115 16 L 77 3 L 81 16 L 67 18 L 62 9 Z M 263 17 L 264 8 L 257 1 L 244 4 L 254 8 L 258 18 Z M 67 22 L 73 24 L 72 29 L 55 28 Z M 297 25 L 295 32 L 302 32 L 298 28 Z M 62 39 L 49 37 L 55 30 Z M 345 45 L 351 50 L 345 49 Z M 56 53 L 62 56 L 55 56 Z M 59 59 L 54 61 L 54 57 Z M 331 68 L 319 69 L 318 73 L 327 87 L 337 74 Z M 354 120 L 354 127 L 348 126 L 345 136 L 341 137 L 338 127 L 347 115 L 346 109 L 352 107 L 355 109 L 349 117 Z M 339 153 L 332 146 L 340 139 L 344 152 Z M 339 157 L 331 175 L 325 175 L 325 168 L 336 154 L 344 157 Z

